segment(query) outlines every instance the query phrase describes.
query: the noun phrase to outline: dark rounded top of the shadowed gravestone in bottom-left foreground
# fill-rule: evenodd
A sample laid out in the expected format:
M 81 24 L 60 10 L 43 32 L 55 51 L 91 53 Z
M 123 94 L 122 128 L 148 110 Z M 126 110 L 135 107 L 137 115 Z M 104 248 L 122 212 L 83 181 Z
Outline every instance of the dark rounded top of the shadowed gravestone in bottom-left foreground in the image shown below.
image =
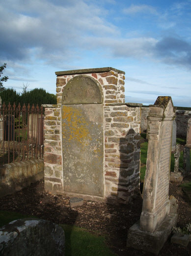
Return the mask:
M 44 219 L 17 219 L 0 228 L 0 255 L 64 256 L 63 229 Z

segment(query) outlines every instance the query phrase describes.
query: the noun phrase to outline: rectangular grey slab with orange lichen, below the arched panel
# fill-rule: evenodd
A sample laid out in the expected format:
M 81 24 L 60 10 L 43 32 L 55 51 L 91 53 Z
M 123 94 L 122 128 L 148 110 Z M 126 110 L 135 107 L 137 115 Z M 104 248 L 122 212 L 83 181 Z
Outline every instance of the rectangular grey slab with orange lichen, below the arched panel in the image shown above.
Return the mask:
M 62 105 L 64 190 L 104 195 L 103 106 Z

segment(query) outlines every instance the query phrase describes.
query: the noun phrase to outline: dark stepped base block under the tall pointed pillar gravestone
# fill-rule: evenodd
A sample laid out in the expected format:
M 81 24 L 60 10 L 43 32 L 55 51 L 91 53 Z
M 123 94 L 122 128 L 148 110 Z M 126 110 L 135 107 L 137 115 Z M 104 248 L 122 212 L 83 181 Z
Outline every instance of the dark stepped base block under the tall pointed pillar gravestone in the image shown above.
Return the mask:
M 169 214 L 154 232 L 140 230 L 138 220 L 128 230 L 127 247 L 158 255 L 171 233 L 172 226 L 176 225 L 177 217 L 177 214 Z

